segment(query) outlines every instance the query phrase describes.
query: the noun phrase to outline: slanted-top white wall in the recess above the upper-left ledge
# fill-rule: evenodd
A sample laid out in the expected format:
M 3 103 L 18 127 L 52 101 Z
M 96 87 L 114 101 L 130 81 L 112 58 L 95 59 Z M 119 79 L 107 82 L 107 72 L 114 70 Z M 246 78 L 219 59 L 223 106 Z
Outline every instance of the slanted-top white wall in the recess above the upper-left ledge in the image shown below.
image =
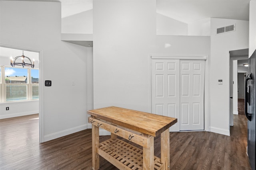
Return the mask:
M 92 10 L 61 19 L 62 33 L 92 34 Z

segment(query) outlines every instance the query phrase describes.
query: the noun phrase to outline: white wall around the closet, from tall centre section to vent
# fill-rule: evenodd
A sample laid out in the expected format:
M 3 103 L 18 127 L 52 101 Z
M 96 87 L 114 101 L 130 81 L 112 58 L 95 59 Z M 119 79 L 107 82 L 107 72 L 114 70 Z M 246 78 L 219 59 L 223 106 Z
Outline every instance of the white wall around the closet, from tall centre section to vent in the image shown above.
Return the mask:
M 248 48 L 248 21 L 212 18 L 211 38 L 155 36 L 153 1 L 94 1 L 93 6 L 94 109 L 150 111 L 150 54 L 210 53 L 210 131 L 230 135 L 229 51 Z M 217 27 L 234 23 L 236 31 L 215 35 Z

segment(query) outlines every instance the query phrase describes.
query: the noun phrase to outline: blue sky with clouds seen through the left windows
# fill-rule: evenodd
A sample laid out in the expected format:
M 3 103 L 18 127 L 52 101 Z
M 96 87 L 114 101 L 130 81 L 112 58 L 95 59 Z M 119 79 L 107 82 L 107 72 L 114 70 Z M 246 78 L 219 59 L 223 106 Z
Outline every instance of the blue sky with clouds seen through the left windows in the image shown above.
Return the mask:
M 28 70 L 24 68 L 5 68 L 5 76 L 28 76 Z M 31 76 L 39 78 L 39 70 L 31 69 Z

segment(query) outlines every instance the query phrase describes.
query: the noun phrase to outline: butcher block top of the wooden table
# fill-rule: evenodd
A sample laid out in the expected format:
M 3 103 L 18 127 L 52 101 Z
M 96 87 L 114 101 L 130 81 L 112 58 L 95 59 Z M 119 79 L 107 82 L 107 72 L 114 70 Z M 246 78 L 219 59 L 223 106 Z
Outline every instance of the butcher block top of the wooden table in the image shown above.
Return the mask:
M 154 137 L 160 135 L 177 122 L 177 119 L 173 117 L 114 106 L 89 110 L 87 113 L 98 119 L 104 119 L 116 125 Z

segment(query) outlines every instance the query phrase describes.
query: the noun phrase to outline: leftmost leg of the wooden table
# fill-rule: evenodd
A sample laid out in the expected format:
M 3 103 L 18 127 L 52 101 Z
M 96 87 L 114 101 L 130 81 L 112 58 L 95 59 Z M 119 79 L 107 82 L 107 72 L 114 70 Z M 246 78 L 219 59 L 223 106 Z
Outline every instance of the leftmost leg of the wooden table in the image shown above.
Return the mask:
M 92 125 L 92 169 L 100 169 L 100 156 L 96 148 L 100 145 L 99 127 Z

